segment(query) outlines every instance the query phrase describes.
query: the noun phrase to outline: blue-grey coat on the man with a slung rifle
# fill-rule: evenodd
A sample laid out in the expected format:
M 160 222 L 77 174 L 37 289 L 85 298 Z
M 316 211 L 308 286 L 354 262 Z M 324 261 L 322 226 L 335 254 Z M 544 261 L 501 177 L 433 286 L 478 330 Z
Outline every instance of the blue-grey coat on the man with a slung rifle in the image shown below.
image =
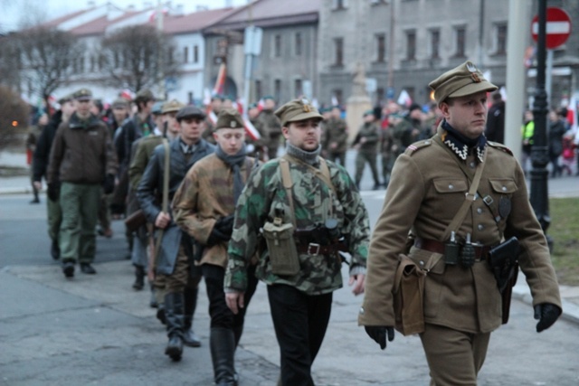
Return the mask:
M 181 149 L 180 138 L 176 138 L 169 145 L 169 213 L 171 212 L 170 203 L 173 200 L 177 189 L 183 182 L 187 171 L 205 155 L 214 153 L 215 146 L 209 144 L 204 139 L 197 144 L 195 152 L 187 160 Z M 165 174 L 165 147 L 161 144 L 155 148 L 153 155 L 147 164 L 145 173 L 141 178 L 137 188 L 138 203 L 147 215 L 147 220 L 155 223 L 161 205 L 157 196 L 163 193 L 163 175 Z M 173 217 L 171 215 L 171 217 Z M 177 253 L 181 244 L 183 231 L 176 225 L 175 221 L 166 227 L 161 241 L 161 248 L 157 256 L 157 273 L 171 275 L 175 268 Z

